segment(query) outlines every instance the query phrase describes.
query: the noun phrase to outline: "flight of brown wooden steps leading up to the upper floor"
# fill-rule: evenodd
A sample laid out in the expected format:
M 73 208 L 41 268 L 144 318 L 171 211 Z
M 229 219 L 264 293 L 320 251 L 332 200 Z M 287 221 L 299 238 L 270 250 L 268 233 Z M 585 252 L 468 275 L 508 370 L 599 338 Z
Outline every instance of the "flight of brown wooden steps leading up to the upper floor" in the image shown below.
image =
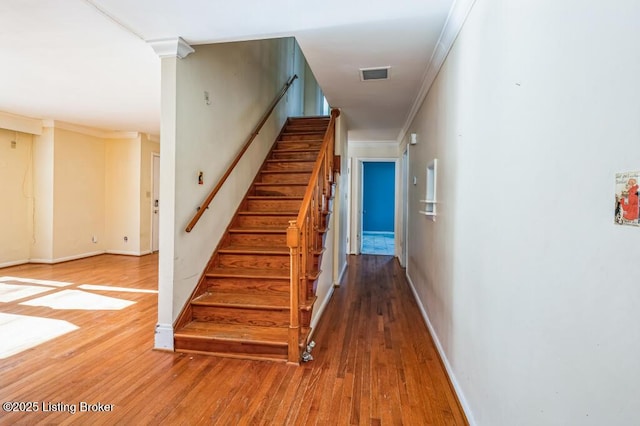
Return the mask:
M 287 228 L 298 216 L 328 124 L 328 117 L 287 120 L 178 319 L 176 351 L 292 362 Z M 324 209 L 317 227 L 321 242 L 328 214 Z M 304 277 L 297 353 L 311 331 L 321 257 L 317 247 Z

